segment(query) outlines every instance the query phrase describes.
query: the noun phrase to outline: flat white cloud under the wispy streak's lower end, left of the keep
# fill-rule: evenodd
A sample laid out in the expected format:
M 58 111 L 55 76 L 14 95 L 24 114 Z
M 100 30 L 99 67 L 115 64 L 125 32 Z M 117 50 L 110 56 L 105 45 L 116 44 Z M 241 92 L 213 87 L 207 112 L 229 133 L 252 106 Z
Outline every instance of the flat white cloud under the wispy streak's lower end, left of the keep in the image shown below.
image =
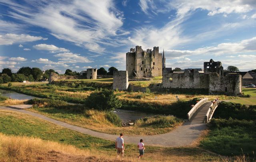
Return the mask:
M 80 54 L 74 54 L 72 52 L 64 52 L 64 53 L 55 54 L 54 57 L 58 57 L 59 62 L 62 62 L 62 63 L 92 62 L 88 58 L 81 56 Z

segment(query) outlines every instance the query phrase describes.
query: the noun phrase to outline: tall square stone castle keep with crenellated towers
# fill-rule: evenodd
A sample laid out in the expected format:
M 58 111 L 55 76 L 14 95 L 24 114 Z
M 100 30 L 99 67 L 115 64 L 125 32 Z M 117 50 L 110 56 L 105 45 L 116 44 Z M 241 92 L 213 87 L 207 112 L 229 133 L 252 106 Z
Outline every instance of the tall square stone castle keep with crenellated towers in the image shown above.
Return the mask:
M 131 48 L 126 53 L 126 70 L 129 77 L 162 76 L 162 54 L 159 47 L 142 50 L 141 46 Z

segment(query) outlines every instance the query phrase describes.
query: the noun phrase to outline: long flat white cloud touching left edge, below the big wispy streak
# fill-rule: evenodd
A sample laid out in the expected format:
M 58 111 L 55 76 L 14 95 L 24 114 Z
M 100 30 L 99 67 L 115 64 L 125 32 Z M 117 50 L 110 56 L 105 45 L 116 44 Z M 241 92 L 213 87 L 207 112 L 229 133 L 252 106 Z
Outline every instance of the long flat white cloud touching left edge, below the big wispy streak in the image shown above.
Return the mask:
M 5 34 L 0 35 L 0 45 L 11 45 L 21 42 L 33 42 L 36 40 L 44 40 L 41 36 L 30 36 L 27 34 Z

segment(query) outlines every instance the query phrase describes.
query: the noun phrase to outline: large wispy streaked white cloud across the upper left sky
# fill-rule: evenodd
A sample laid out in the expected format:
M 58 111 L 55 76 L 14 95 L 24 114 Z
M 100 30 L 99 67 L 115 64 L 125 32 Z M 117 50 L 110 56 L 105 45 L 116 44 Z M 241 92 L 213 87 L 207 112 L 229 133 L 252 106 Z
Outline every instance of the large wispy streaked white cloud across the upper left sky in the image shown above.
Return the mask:
M 72 3 L 45 1 L 18 5 L 5 2 L 12 10 L 8 16 L 27 24 L 46 28 L 58 39 L 73 42 L 92 52 L 103 53 L 102 44 L 123 44 L 119 34 L 123 31 L 123 13 L 115 8 L 113 0 L 74 0 Z

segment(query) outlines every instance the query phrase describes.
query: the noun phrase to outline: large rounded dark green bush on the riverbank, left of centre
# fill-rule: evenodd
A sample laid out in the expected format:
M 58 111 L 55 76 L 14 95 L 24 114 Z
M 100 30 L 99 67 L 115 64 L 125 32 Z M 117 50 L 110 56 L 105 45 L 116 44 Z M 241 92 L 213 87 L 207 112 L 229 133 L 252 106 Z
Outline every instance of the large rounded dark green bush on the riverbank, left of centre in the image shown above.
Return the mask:
M 103 89 L 102 92 L 91 93 L 86 99 L 86 106 L 96 110 L 112 111 L 122 106 L 114 94 L 114 90 Z

